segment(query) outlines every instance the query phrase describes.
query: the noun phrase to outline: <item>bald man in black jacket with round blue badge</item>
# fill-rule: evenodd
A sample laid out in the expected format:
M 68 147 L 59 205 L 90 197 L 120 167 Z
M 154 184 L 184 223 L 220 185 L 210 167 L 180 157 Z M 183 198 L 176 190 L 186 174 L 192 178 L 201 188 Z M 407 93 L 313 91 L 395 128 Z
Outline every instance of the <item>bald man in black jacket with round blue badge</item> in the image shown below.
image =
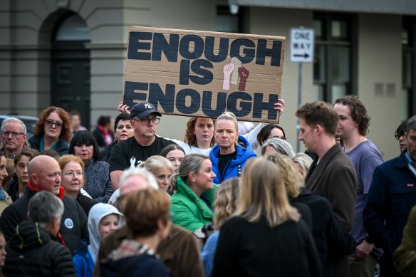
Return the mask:
M 39 155 L 28 165 L 29 183 L 21 199 L 11 204 L 0 217 L 0 229 L 6 241 L 14 235 L 17 224 L 27 220 L 28 202 L 37 192 L 48 191 L 62 200 L 64 211 L 58 232 L 58 241 L 68 247 L 71 253 L 81 239 L 88 240 L 87 216 L 75 199 L 63 195 L 61 168 L 53 157 Z

